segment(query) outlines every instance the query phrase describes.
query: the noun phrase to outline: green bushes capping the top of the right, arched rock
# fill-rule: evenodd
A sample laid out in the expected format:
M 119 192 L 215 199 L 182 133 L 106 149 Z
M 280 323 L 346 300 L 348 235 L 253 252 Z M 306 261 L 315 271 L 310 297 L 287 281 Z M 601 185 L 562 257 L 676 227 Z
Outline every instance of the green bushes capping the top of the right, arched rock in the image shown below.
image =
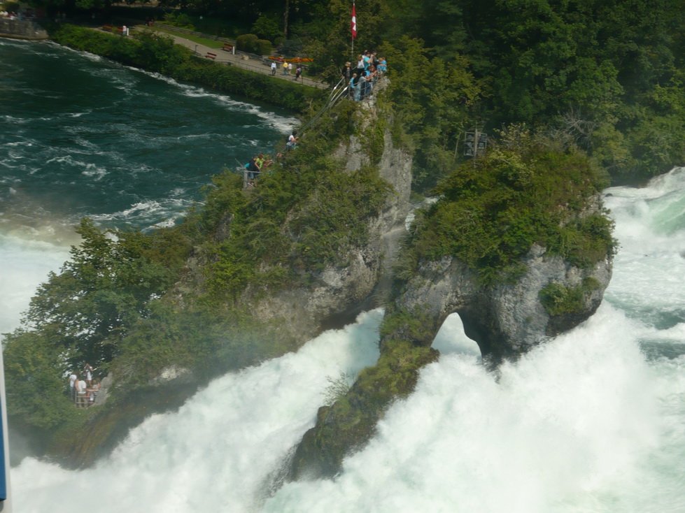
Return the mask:
M 516 275 L 533 244 L 581 267 L 613 254 L 612 223 L 585 211 L 607 183 L 588 157 L 520 127 L 501 139 L 436 187 L 439 201 L 418 216 L 400 277 L 422 259 L 452 255 L 493 282 Z

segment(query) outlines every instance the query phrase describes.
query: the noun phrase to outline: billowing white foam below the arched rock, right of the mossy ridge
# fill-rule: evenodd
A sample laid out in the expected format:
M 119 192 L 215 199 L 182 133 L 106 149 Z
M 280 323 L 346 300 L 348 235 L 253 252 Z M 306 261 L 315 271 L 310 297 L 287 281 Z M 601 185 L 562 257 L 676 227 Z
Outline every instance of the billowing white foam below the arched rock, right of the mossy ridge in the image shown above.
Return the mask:
M 658 453 L 657 398 L 630 325 L 605 307 L 499 382 L 472 356 L 442 357 L 339 477 L 286 484 L 264 511 L 573 511 L 616 486 L 633 493 L 623 486 Z

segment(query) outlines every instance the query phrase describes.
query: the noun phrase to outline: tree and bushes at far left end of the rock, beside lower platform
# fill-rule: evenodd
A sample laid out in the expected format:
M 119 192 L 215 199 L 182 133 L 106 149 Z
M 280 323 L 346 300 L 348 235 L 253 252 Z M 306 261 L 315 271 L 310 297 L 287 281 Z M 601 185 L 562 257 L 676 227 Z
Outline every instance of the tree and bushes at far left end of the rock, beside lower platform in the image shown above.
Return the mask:
M 146 236 L 101 231 L 84 219 L 77 231 L 83 243 L 38 287 L 25 328 L 4 342 L 8 412 L 38 428 L 56 428 L 73 415 L 63 377 L 86 362 L 104 376 L 188 256 L 178 229 Z

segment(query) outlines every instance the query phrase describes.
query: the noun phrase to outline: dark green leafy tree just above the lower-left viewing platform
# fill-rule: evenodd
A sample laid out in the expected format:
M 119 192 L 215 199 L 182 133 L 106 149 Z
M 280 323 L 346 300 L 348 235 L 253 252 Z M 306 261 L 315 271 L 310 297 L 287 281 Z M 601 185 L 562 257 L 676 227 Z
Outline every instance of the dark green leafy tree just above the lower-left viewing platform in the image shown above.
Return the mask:
M 38 287 L 24 322 L 45 336 L 67 362 L 106 366 L 118 353 L 127 326 L 148 315 L 148 301 L 176 279 L 175 266 L 155 254 L 155 238 L 141 233 L 100 231 L 83 219 L 83 243 L 59 274 Z M 171 261 L 178 265 L 179 255 Z

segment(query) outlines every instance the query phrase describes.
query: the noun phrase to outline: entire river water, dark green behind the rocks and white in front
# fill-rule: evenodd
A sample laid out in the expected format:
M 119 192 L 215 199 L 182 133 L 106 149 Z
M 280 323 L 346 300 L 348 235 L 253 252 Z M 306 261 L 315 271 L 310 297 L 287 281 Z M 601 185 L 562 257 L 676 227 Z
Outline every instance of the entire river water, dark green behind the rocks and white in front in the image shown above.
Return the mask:
M 52 45 L 0 40 L 0 57 L 0 89 L 15 98 L 0 103 L 3 331 L 66 258 L 78 217 L 174 222 L 209 175 L 269 150 L 293 122 Z M 39 120 L 42 135 L 27 128 Z M 685 168 L 607 189 L 605 205 L 620 250 L 598 312 L 498 380 L 450 317 L 439 361 L 334 479 L 278 475 L 332 382 L 374 363 L 380 311 L 214 380 L 94 468 L 22 458 L 15 511 L 685 512 Z

